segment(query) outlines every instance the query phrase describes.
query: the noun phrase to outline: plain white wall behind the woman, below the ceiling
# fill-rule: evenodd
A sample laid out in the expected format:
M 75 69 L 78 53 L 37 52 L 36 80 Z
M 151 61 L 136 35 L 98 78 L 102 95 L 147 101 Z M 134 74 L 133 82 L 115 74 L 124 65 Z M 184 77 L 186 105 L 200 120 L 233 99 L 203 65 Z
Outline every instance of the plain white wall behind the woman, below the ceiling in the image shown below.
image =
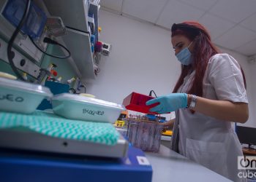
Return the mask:
M 87 85 L 87 92 L 103 100 L 122 103 L 131 92 L 147 95 L 154 90 L 157 95 L 165 95 L 173 90 L 181 69 L 170 42 L 170 31 L 104 10 L 99 11 L 99 25 L 102 27 L 99 39 L 110 43 L 112 50 L 109 57 L 102 57 L 99 76 Z M 252 98 L 251 67 L 246 57 L 222 51 L 233 55 L 244 68 L 248 96 Z M 252 112 L 250 109 L 250 114 Z M 255 124 L 252 115 L 247 123 Z

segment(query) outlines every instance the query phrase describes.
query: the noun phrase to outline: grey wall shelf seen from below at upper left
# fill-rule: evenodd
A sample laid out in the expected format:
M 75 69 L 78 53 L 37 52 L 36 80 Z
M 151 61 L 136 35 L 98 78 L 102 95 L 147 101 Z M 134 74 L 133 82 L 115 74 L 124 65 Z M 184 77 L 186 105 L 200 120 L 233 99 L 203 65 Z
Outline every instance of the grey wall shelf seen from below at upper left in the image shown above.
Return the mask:
M 61 17 L 67 28 L 68 35 L 63 36 L 62 39 L 80 71 L 81 82 L 93 82 L 96 76 L 88 33 L 89 2 L 85 0 L 44 0 L 44 2 L 50 15 Z

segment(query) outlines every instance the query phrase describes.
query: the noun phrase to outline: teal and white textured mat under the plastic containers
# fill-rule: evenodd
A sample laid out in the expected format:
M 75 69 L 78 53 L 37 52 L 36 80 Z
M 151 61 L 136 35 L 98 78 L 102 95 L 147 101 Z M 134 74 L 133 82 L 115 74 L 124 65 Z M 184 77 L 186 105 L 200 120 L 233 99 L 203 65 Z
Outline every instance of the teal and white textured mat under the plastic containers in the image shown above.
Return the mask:
M 29 130 L 50 137 L 115 145 L 119 138 L 110 123 L 64 119 L 44 111 L 34 114 L 0 112 L 0 129 Z

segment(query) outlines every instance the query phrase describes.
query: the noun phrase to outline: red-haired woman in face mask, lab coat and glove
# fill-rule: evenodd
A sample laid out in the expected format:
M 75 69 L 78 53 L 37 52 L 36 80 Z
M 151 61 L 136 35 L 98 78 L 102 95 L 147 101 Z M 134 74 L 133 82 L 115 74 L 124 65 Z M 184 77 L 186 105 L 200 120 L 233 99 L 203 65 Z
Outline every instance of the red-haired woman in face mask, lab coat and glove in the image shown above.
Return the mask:
M 173 93 L 153 100 L 151 111 L 176 111 L 172 149 L 233 181 L 243 156 L 232 122 L 248 119 L 246 82 L 238 62 L 220 54 L 203 25 L 173 24 L 171 41 L 181 62 Z

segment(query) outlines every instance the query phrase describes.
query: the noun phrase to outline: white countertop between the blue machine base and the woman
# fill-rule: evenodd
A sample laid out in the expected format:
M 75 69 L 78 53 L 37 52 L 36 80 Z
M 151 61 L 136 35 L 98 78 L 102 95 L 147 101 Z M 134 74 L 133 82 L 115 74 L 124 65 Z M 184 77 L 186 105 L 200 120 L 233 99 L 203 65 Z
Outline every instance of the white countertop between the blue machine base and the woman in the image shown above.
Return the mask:
M 166 146 L 161 145 L 159 153 L 146 152 L 146 157 L 153 168 L 152 182 L 230 181 L 222 175 L 168 149 Z

